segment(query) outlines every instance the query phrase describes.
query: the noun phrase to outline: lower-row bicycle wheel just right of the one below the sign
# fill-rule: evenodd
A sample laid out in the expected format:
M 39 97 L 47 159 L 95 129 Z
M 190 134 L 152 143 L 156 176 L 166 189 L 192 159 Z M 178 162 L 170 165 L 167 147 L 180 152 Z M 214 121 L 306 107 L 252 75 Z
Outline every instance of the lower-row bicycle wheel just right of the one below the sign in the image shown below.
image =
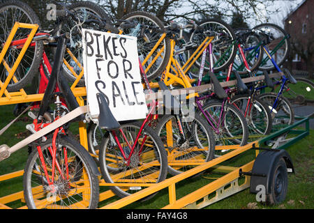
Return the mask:
M 161 118 L 160 121 L 158 122 L 158 125 L 156 126 L 156 129 L 155 129 L 158 136 L 160 137 L 160 139 L 163 141 L 163 144 L 165 145 L 167 145 L 167 140 L 169 139 L 167 139 L 167 130 L 165 130 L 164 128 L 166 127 L 167 123 L 172 120 L 172 118 L 176 119 L 174 115 L 164 115 L 163 118 Z M 172 127 L 177 125 L 177 121 L 172 121 L 171 123 L 173 123 Z M 200 126 L 203 134 L 198 133 L 200 132 L 200 130 L 199 128 L 197 128 L 197 125 L 195 124 Z M 177 174 L 181 174 L 184 171 L 187 171 L 188 169 L 195 167 L 193 165 L 192 166 L 186 165 L 186 166 L 178 167 L 178 165 L 175 164 L 175 162 L 180 162 L 181 160 L 191 160 L 191 162 L 202 163 L 202 162 L 208 162 L 214 158 L 215 139 L 214 139 L 214 134 L 209 124 L 207 123 L 207 121 L 204 120 L 204 118 L 201 118 L 200 116 L 195 114 L 193 123 L 191 122 L 187 128 L 186 128 L 186 125 L 184 125 L 184 122 L 182 122 L 182 130 L 185 131 L 188 128 L 194 130 L 193 132 L 190 132 L 192 136 L 186 139 L 186 141 L 184 141 L 183 143 L 181 143 L 181 140 L 179 139 L 177 139 L 176 141 L 174 141 L 173 139 L 170 139 L 172 140 L 173 145 L 171 148 L 170 146 L 166 148 L 166 151 L 168 153 L 168 172 L 172 174 L 173 176 Z M 179 130 L 178 127 L 175 129 Z M 195 132 L 197 132 L 197 137 L 195 137 L 196 135 Z M 177 134 L 177 137 L 178 137 L 178 133 L 179 132 L 174 132 L 174 128 L 172 128 L 172 134 Z M 185 132 L 185 134 L 186 133 L 188 132 Z M 163 137 L 164 135 L 165 137 Z M 193 141 L 196 143 L 196 144 L 193 144 L 194 146 L 192 146 L 191 144 Z M 186 151 L 186 148 L 184 148 L 186 142 L 188 142 L 188 146 L 189 146 L 188 151 Z M 199 151 L 199 148 L 205 147 L 204 145 L 207 145 L 208 147 L 207 151 Z M 193 148 L 190 149 L 190 147 L 195 147 L 195 146 L 197 146 L 197 151 L 193 151 Z M 177 147 L 179 148 L 178 151 L 174 151 L 173 153 L 172 151 L 175 150 Z M 183 155 L 179 154 L 181 150 L 184 153 Z M 174 163 L 174 165 L 169 164 L 172 162 Z

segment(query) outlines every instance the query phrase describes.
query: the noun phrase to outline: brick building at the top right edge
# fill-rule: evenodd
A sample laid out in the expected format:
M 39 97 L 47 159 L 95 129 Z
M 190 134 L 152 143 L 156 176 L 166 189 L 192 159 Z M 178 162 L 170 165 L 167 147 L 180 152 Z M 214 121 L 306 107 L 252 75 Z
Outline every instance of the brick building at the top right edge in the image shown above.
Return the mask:
M 291 51 L 288 66 L 292 70 L 314 71 L 314 0 L 304 0 L 284 19 L 290 33 Z

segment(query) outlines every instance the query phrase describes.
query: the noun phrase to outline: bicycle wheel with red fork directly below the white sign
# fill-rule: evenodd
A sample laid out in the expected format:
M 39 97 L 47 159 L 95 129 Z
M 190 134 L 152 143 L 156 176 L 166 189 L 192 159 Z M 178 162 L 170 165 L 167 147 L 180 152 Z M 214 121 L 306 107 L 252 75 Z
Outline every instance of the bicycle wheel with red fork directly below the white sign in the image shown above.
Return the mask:
M 105 182 L 133 184 L 111 186 L 110 189 L 118 197 L 126 197 L 138 192 L 145 188 L 144 184 L 147 183 L 147 186 L 149 186 L 151 183 L 158 183 L 165 180 L 167 176 L 167 154 L 162 141 L 149 126 L 145 126 L 142 132 L 140 132 L 141 125 L 142 123 L 140 122 L 121 125 L 121 130 L 124 132 L 126 140 L 120 131 L 116 133 L 122 151 L 117 146 L 116 141 L 114 141 L 112 132 L 110 132 L 109 137 L 103 139 L 100 146 L 99 163 Z M 136 141 L 139 132 L 140 136 Z M 130 156 L 130 146 L 135 141 L 135 148 Z M 123 153 L 128 159 L 124 159 Z M 145 200 L 150 199 L 154 195 L 149 195 Z

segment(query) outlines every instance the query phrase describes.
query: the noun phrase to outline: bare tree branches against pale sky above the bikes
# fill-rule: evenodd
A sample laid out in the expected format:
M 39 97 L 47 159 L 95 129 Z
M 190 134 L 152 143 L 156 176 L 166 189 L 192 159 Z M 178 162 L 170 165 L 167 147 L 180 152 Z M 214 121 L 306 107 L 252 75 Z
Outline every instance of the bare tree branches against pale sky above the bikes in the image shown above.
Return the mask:
M 212 17 L 213 14 L 231 18 L 234 11 L 246 19 L 257 19 L 263 13 L 271 16 L 278 12 L 278 8 L 269 7 L 274 1 L 276 0 L 99 0 L 98 2 L 107 13 L 118 19 L 130 11 L 144 10 L 154 13 L 164 22 L 169 22 L 179 18 L 200 20 L 201 17 Z M 180 10 L 181 8 L 185 10 Z

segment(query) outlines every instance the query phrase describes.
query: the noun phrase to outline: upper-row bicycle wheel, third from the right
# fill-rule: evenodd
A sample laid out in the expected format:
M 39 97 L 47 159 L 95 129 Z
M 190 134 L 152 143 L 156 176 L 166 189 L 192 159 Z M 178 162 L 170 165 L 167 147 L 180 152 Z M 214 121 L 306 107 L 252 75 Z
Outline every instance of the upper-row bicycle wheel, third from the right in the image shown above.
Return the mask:
M 225 22 L 223 22 L 222 20 L 217 20 L 217 19 L 206 19 L 206 20 L 202 20 L 201 22 L 198 22 L 197 25 L 198 26 L 205 26 L 204 29 L 209 29 L 210 27 L 210 24 L 216 24 L 216 27 L 218 26 L 217 29 L 220 28 L 220 30 L 218 31 L 221 31 L 221 29 L 225 29 L 226 31 L 223 31 L 224 33 L 227 33 L 227 38 L 225 38 L 225 41 L 227 43 L 227 46 L 224 46 L 224 47 L 219 47 L 218 44 L 222 44 L 223 42 L 220 42 L 217 41 L 216 43 L 214 43 L 214 45 L 212 46 L 213 48 L 213 55 L 214 54 L 220 54 L 218 52 L 220 52 L 220 49 L 222 51 L 222 55 L 223 55 L 223 49 L 226 47 L 228 48 L 229 46 L 231 47 L 231 52 L 229 54 L 227 54 L 227 59 L 225 60 L 225 62 L 223 62 L 223 64 L 221 64 L 220 66 L 214 66 L 213 70 L 214 72 L 218 72 L 220 70 L 225 70 L 225 68 L 227 68 L 227 66 L 230 65 L 230 63 L 232 63 L 232 61 L 234 61 L 234 57 L 236 56 L 236 53 L 237 53 L 237 50 L 236 50 L 236 46 L 234 45 L 231 45 L 232 42 L 234 41 L 235 39 L 235 34 L 234 34 L 234 30 L 231 28 L 231 26 Z M 206 27 L 206 25 L 208 25 L 209 27 Z M 198 44 L 201 44 L 203 42 L 203 40 L 205 39 L 204 35 L 202 35 L 202 33 L 200 35 L 198 35 L 199 38 L 197 38 L 197 30 L 199 29 L 196 29 L 194 30 L 191 35 L 190 35 L 190 41 L 193 42 L 193 43 L 198 43 Z M 188 52 L 188 57 L 190 57 L 191 55 L 191 52 Z M 222 56 L 220 55 L 220 56 Z M 215 58 L 215 56 L 214 56 Z M 218 57 L 218 59 L 220 59 L 220 57 Z M 218 61 L 218 59 L 216 59 L 216 61 Z M 214 60 L 215 62 L 215 60 Z M 200 68 L 200 62 L 198 61 L 195 61 L 195 66 L 197 66 L 197 68 Z M 205 64 L 204 66 L 204 69 L 205 70 L 209 70 L 209 67 Z

